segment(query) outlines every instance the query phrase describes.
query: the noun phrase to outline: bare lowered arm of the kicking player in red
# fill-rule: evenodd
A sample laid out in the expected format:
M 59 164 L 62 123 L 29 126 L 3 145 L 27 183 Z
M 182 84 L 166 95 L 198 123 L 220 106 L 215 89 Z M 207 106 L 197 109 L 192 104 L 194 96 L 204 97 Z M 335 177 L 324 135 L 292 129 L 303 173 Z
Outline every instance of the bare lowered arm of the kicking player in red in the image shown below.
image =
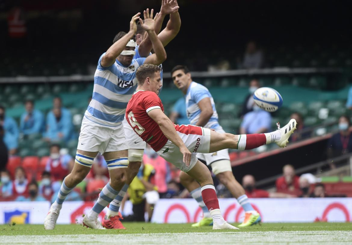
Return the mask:
M 157 108 L 150 110 L 148 116 L 152 118 L 158 125 L 166 138 L 168 138 L 172 143 L 174 143 L 180 152 L 183 154 L 183 162 L 186 163 L 186 166 L 189 167 L 191 161 L 191 153 L 184 145 L 180 136 L 178 136 L 174 124 L 171 120 L 164 114 L 164 112 Z

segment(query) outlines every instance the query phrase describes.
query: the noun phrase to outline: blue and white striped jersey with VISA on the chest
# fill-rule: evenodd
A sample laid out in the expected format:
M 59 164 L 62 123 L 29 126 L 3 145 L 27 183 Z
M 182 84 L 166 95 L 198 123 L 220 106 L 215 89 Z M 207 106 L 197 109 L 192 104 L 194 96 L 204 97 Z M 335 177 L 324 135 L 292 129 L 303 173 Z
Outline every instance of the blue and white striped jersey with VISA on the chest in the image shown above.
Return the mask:
M 88 120 L 114 127 L 124 120 L 128 101 L 137 88 L 136 71 L 145 58 L 133 59 L 130 66 L 118 60 L 109 67 L 101 66 L 101 59 L 94 74 L 92 101 L 84 114 Z

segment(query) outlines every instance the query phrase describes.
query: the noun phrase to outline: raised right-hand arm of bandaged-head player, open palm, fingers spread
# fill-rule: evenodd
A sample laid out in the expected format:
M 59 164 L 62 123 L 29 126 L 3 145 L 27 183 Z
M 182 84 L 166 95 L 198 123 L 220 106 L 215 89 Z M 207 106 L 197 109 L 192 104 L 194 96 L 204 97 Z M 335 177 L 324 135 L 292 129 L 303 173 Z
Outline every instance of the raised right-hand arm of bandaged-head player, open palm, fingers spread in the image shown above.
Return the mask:
M 155 18 L 157 18 L 157 16 Z M 148 33 L 148 36 L 153 45 L 153 50 L 155 52 L 154 54 L 148 56 L 145 59 L 144 64 L 160 65 L 166 59 L 166 52 L 163 44 L 161 43 L 161 41 L 159 40 L 158 36 L 154 31 L 155 20 L 153 20 L 153 9 L 150 13 L 150 16 L 149 16 L 149 12 L 144 11 L 144 23 L 142 19 L 139 19 L 139 21 L 142 28 Z

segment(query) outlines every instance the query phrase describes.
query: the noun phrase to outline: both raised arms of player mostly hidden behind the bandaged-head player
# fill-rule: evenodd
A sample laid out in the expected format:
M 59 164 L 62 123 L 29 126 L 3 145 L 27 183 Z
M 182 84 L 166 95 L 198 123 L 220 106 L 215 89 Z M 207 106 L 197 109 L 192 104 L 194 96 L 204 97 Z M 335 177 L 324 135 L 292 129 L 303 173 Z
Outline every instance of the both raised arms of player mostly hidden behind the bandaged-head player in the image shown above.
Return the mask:
M 158 38 L 165 47 L 172 39 L 174 39 L 177 33 L 180 31 L 181 18 L 178 13 L 177 0 L 162 0 L 160 13 L 158 18 L 155 20 L 155 33 L 158 34 L 161 30 L 164 18 L 170 14 L 170 20 L 166 25 L 165 29 L 158 34 Z M 145 35 L 143 41 L 138 46 L 138 52 L 140 56 L 147 57 L 152 49 L 152 43 L 149 35 Z

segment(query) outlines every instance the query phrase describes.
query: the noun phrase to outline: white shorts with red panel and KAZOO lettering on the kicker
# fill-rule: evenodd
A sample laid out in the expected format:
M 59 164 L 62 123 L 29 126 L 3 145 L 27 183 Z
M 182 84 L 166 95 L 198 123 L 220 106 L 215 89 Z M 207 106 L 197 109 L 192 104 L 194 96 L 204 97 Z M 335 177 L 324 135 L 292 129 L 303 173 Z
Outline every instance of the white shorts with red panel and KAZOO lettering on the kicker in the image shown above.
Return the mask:
M 180 148 L 170 140 L 168 140 L 157 153 L 183 172 L 188 172 L 198 161 L 197 153 L 209 153 L 210 129 L 194 125 L 180 125 L 179 128 L 180 129 L 176 129 L 177 134 L 181 137 L 187 149 L 192 153 L 189 167 L 183 162 L 183 155 L 180 152 Z

